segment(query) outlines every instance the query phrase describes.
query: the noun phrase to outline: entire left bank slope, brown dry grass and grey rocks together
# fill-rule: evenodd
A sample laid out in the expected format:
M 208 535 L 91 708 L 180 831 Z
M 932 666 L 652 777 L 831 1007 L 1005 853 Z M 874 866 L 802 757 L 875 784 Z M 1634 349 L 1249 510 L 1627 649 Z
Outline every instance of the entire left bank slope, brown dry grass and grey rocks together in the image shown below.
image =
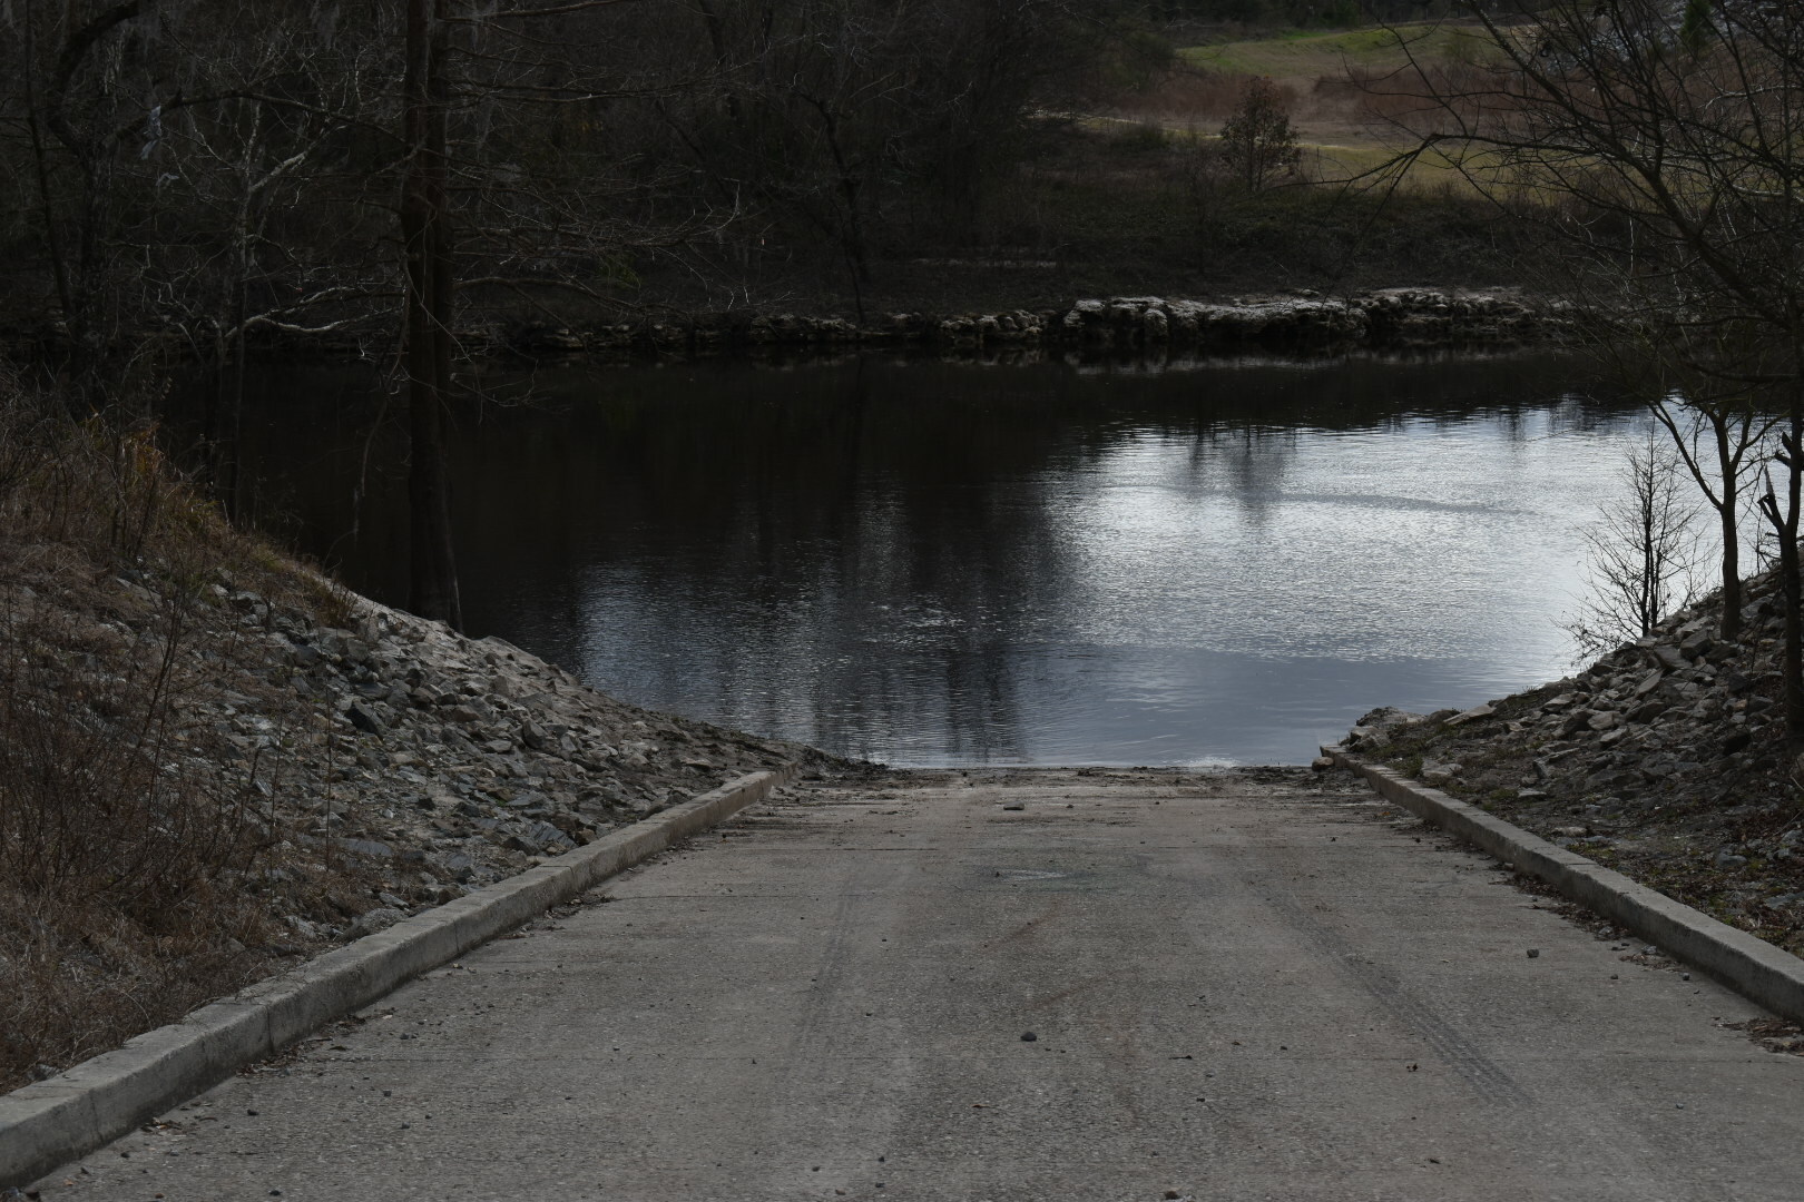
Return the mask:
M 0 1088 L 745 773 L 857 771 L 180 514 L 135 562 L 0 555 Z

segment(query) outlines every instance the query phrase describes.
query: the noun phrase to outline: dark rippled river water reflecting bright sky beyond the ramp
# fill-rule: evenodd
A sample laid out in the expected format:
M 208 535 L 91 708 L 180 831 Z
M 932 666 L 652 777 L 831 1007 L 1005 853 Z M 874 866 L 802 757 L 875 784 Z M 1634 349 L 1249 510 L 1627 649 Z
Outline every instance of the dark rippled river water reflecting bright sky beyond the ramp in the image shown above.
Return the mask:
M 1548 355 L 489 384 L 530 404 L 456 434 L 473 634 L 897 764 L 1295 762 L 1375 705 L 1559 676 L 1577 526 L 1642 429 Z M 381 391 L 262 391 L 260 506 L 402 602 Z

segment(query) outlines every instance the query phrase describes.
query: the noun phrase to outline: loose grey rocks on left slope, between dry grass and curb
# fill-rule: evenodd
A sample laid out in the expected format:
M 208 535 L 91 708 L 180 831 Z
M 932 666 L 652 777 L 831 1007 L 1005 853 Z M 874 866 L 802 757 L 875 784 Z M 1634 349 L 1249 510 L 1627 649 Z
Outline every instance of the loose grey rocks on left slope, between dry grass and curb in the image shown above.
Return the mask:
M 202 699 L 244 762 L 263 760 L 281 878 L 346 865 L 366 881 L 345 912 L 287 912 L 296 944 L 381 930 L 749 771 L 826 759 L 651 714 L 498 638 L 348 598 L 350 625 L 216 587 L 267 643 L 258 697 Z M 256 658 L 253 658 L 253 663 Z M 280 768 L 278 768 L 280 764 Z M 303 894 L 296 894 L 303 896 Z

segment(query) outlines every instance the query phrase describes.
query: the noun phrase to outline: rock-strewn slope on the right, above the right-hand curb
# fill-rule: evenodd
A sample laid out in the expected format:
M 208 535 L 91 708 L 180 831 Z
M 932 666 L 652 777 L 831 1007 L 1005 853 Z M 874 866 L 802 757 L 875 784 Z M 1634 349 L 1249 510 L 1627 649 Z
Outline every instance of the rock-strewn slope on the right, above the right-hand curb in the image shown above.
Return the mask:
M 1465 712 L 1373 710 L 1342 746 L 1804 953 L 1804 762 L 1786 750 L 1781 606 L 1681 611 L 1578 676 Z

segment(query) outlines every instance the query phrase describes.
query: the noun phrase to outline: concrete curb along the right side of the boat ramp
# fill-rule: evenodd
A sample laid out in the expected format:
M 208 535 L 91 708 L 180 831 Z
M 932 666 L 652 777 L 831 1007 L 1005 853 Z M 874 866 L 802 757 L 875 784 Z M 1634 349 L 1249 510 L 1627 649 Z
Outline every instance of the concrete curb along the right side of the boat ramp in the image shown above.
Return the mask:
M 1322 748 L 1387 800 L 1458 834 L 1517 872 L 1539 878 L 1573 901 L 1622 923 L 1669 955 L 1703 970 L 1766 1009 L 1804 1022 L 1804 961 L 1764 939 L 1672 901 L 1622 872 L 1533 836 L 1476 806 L 1416 784 L 1340 748 Z

